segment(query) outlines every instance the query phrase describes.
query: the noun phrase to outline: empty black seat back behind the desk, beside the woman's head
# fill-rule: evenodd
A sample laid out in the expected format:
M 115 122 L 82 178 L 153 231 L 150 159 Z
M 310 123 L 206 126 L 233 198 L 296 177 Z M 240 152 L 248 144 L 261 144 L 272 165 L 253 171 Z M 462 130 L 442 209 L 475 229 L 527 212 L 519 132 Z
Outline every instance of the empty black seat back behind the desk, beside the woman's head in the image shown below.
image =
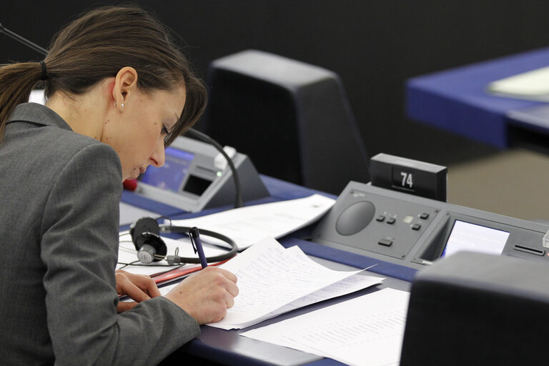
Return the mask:
M 202 129 L 257 170 L 324 192 L 368 182 L 367 154 L 339 76 L 262 51 L 209 66 Z

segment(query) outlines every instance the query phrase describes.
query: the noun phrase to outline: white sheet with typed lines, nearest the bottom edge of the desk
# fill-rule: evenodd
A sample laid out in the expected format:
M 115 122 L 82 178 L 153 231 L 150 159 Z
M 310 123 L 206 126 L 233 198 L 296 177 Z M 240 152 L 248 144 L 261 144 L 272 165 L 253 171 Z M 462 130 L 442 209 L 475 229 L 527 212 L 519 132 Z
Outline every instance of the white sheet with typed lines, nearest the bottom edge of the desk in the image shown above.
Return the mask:
M 386 288 L 240 335 L 347 365 L 398 365 L 408 298 Z

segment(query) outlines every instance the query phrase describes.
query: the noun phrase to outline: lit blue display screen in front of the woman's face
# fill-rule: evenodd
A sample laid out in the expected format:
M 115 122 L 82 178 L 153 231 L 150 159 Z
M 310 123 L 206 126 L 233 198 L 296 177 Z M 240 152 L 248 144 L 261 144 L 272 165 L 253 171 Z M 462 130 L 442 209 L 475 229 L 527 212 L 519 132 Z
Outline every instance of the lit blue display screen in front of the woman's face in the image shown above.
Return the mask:
M 192 159 L 194 159 L 192 152 L 167 147 L 164 165 L 149 167 L 139 180 L 167 191 L 179 192 L 179 188 L 189 172 Z

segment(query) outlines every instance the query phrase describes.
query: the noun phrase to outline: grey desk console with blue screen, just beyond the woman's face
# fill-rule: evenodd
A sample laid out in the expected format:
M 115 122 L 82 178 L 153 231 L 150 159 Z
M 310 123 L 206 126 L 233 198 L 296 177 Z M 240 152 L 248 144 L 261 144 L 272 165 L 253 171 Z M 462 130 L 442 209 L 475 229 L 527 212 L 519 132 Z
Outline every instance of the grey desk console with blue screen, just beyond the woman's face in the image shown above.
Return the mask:
M 269 196 L 249 157 L 234 152 L 231 159 L 242 185 L 242 199 Z M 149 167 L 134 192 L 188 212 L 233 204 L 236 187 L 225 165 L 211 144 L 178 137 L 166 148 L 164 166 Z

